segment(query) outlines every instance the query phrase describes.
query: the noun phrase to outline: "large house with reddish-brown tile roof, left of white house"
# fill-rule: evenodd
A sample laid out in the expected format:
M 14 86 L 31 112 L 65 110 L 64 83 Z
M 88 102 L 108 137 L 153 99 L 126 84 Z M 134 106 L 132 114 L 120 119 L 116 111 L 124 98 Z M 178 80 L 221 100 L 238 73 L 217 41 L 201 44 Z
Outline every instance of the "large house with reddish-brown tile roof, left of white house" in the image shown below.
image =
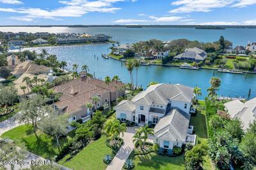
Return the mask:
M 79 119 L 83 120 L 84 123 L 90 120 L 92 114 L 86 107 L 86 104 L 92 103 L 93 109 L 104 105 L 107 106 L 109 101 L 116 100 L 116 94 L 118 97 L 124 96 L 122 86 L 124 86 L 122 82 L 111 82 L 108 85 L 104 81 L 91 77 L 74 79 L 53 88 L 56 93 L 62 94 L 59 99 L 60 101 L 54 104 L 54 109 L 60 113 L 67 113 L 69 123 Z M 92 101 L 95 95 L 100 98 L 97 105 Z

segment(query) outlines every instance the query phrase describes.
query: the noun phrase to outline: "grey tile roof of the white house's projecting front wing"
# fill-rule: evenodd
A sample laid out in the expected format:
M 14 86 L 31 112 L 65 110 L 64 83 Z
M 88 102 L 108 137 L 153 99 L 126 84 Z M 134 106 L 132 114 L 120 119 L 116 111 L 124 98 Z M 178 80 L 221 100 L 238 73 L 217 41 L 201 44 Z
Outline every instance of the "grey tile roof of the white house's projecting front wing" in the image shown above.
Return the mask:
M 178 108 L 173 108 L 160 118 L 154 128 L 154 136 L 166 141 L 186 142 L 190 115 Z

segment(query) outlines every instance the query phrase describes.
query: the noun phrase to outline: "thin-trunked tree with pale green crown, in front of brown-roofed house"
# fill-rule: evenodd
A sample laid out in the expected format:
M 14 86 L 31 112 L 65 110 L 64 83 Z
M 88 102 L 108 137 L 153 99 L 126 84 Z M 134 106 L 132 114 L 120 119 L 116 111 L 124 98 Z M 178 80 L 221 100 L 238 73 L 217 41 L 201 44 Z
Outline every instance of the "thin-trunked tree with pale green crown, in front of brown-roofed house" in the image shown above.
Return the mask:
M 58 115 L 54 111 L 48 109 L 49 116 L 40 120 L 39 128 L 46 134 L 55 137 L 58 150 L 60 153 L 60 142 L 59 139 L 63 135 L 68 133 L 68 116 L 65 114 Z

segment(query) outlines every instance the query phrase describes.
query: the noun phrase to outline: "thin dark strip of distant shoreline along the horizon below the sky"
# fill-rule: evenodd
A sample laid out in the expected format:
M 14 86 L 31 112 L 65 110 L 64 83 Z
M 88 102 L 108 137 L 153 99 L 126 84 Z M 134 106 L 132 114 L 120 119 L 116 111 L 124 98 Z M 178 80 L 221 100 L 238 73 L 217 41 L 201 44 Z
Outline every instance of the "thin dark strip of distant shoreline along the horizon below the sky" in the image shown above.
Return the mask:
M 32 26 L 0 26 L 0 27 L 127 27 L 127 25 L 32 25 Z M 130 25 L 129 27 L 220 27 L 225 28 L 243 28 L 243 29 L 256 29 L 256 26 L 206 26 L 206 25 Z

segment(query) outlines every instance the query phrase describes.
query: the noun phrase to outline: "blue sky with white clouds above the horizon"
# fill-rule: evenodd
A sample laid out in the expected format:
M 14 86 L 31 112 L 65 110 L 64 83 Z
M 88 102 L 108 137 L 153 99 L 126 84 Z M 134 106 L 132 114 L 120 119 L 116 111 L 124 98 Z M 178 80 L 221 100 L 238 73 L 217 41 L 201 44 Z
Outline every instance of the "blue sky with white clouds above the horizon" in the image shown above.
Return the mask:
M 0 0 L 0 25 L 256 25 L 256 0 Z

